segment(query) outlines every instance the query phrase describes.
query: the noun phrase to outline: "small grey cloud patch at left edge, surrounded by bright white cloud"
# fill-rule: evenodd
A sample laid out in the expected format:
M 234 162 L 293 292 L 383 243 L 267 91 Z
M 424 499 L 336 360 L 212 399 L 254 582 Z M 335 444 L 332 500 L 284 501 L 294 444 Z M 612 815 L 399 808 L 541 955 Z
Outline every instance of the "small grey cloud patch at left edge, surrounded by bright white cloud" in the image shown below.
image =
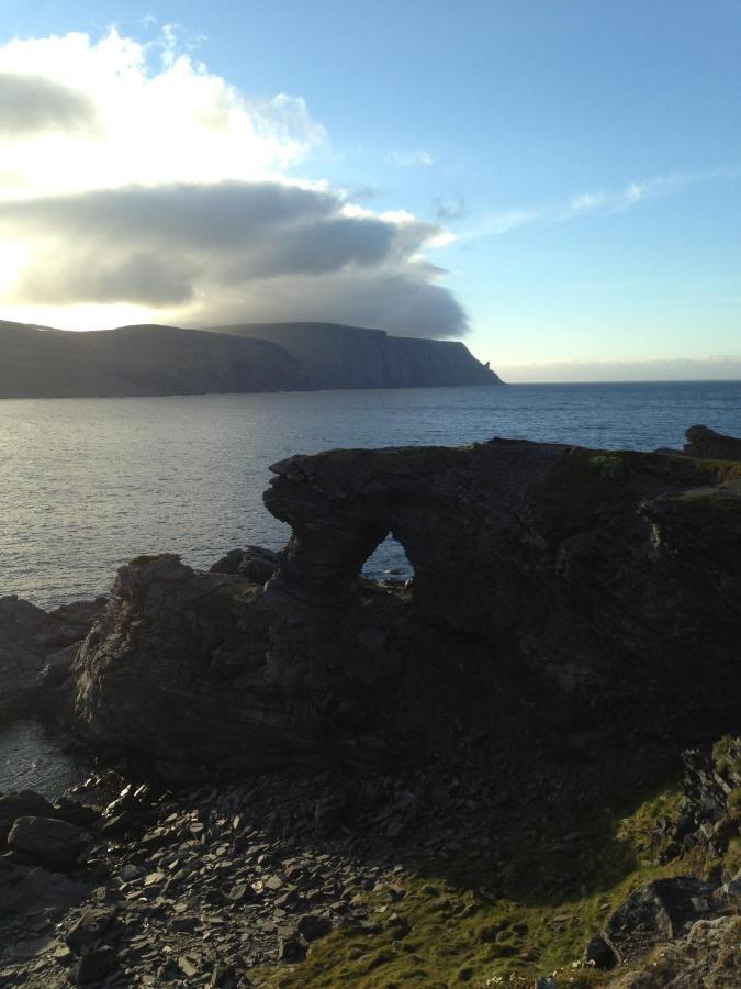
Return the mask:
M 0 134 L 93 130 L 96 111 L 86 93 L 43 76 L 0 73 Z

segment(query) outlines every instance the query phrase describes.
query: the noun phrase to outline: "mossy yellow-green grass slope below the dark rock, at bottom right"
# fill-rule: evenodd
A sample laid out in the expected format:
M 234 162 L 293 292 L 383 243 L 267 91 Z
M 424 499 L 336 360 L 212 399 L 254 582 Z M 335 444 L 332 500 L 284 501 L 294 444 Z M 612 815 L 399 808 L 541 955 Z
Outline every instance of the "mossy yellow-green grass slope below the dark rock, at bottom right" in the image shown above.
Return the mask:
M 569 782 L 548 813 L 515 810 L 501 821 L 491 857 L 471 849 L 445 869 L 420 864 L 395 888 L 364 894 L 371 932 L 340 927 L 300 965 L 263 969 L 261 985 L 531 989 L 537 976 L 558 971 L 562 987 L 598 986 L 602 975 L 580 959 L 609 913 L 637 887 L 697 863 L 659 864 L 655 829 L 680 797 L 674 767 L 656 767 L 637 786 L 615 764 L 590 766 Z M 594 787 L 594 799 L 576 799 L 571 784 Z

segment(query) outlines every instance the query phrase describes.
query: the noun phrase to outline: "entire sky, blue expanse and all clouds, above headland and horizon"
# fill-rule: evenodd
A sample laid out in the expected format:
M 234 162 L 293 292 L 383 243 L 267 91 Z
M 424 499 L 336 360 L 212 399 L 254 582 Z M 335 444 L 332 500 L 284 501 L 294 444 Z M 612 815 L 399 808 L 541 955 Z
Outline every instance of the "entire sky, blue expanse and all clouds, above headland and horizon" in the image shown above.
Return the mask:
M 738 0 L 0 5 L 0 315 L 741 378 Z

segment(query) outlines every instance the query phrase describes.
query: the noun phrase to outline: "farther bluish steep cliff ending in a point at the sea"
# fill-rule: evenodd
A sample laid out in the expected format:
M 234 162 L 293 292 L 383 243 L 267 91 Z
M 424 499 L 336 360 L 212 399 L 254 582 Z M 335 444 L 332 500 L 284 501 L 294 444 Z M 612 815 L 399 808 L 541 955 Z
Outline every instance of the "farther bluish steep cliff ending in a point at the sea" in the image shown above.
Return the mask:
M 213 332 L 268 340 L 296 358 L 312 388 L 501 385 L 459 342 L 389 336 L 335 323 L 248 323 Z

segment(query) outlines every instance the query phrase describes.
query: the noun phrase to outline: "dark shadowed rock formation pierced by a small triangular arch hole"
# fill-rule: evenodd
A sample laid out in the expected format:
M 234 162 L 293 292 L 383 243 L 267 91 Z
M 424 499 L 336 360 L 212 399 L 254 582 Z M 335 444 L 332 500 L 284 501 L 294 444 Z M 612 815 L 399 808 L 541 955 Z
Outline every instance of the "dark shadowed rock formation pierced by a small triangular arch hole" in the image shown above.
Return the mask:
M 429 753 L 513 698 L 555 729 L 733 727 L 741 467 L 494 440 L 272 469 L 278 559 L 119 571 L 75 664 L 88 737 L 177 775 Z M 411 592 L 358 580 L 389 532 Z

